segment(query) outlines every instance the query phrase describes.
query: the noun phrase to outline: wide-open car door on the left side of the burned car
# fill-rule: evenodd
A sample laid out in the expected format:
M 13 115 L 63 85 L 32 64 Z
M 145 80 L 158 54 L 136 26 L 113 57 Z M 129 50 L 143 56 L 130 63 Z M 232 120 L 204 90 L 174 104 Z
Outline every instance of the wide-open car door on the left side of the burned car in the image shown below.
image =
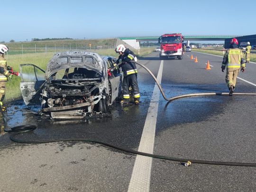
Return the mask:
M 26 105 L 40 104 L 40 93 L 46 82 L 45 71 L 34 64 L 19 65 L 20 91 Z

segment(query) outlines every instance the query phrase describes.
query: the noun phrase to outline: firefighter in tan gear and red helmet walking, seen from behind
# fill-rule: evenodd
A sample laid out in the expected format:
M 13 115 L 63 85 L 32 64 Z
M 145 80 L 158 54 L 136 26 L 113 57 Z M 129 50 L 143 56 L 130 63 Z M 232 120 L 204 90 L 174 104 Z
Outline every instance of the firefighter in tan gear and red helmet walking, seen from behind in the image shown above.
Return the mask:
M 245 72 L 246 69 L 243 52 L 238 49 L 238 40 L 236 38 L 231 40 L 229 49 L 225 52 L 221 66 L 222 72 L 224 72 L 226 67 L 226 83 L 229 87 L 229 96 L 232 96 L 236 87 L 240 67 L 242 72 Z

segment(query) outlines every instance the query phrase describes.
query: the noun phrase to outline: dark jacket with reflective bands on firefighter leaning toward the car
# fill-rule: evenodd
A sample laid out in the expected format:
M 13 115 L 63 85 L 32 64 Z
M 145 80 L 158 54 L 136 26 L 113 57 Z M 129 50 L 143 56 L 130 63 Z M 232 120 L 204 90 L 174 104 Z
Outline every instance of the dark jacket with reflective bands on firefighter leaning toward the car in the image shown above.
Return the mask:
M 120 67 L 122 68 L 124 76 L 137 74 L 137 67 L 135 63 L 129 62 L 131 60 L 134 60 L 135 57 L 135 54 L 129 49 L 126 49 L 124 53 L 119 56 L 117 63 L 122 61 Z

